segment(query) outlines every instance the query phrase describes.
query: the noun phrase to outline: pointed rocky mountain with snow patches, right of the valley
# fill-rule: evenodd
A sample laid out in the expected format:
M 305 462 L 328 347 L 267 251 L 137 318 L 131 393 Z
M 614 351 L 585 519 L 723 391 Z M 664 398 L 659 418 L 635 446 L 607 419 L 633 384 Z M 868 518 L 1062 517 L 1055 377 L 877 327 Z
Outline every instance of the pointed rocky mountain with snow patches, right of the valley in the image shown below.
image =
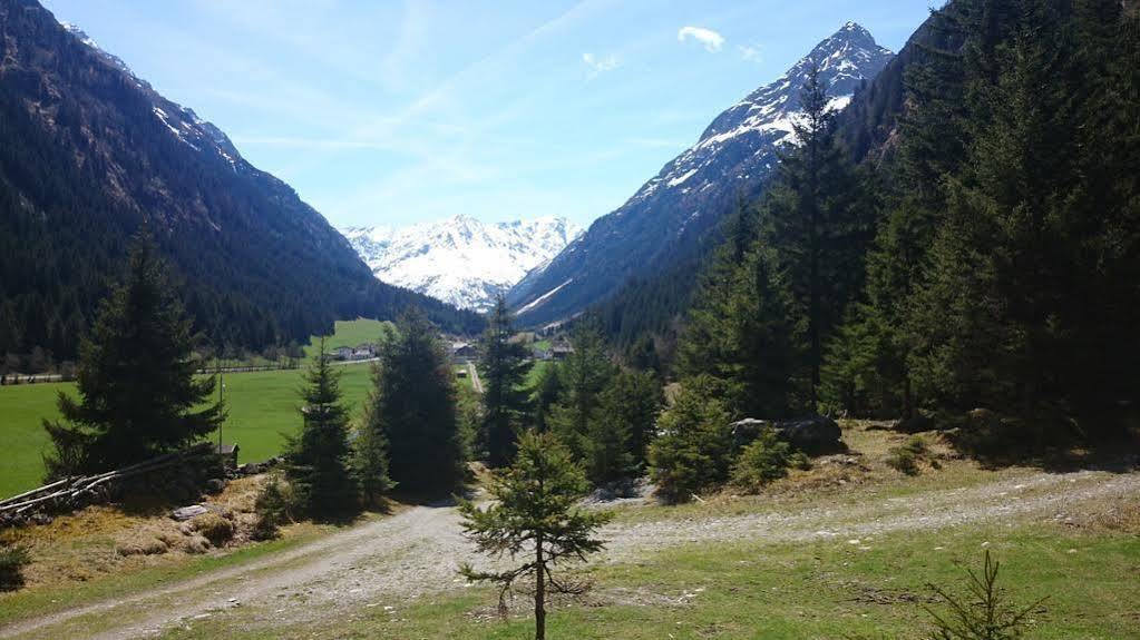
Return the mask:
M 792 122 L 811 66 L 819 65 L 832 108 L 841 109 L 891 57 L 866 30 L 847 23 L 784 75 L 717 116 L 621 207 L 513 287 L 507 302 L 522 322 L 551 322 L 692 261 L 734 199 L 755 197 L 772 177 L 780 147 L 795 141 Z

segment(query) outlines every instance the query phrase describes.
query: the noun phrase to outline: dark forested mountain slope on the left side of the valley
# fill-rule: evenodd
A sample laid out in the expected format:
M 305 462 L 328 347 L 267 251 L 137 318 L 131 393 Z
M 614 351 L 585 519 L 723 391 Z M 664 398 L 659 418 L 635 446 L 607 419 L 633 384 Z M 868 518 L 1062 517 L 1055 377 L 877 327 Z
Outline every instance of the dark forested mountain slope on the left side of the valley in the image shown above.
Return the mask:
M 0 0 L 0 354 L 75 354 L 130 237 L 155 237 L 196 330 L 246 347 L 418 304 L 218 128 L 34 0 Z

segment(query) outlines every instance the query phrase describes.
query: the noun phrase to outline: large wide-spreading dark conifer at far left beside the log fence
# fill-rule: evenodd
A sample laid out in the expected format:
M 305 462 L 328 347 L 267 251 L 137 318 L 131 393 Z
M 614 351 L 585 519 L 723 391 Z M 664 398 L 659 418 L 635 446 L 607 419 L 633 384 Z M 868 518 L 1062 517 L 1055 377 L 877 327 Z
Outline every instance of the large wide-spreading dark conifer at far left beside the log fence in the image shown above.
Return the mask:
M 173 451 L 225 419 L 201 407 L 214 380 L 195 378 L 190 321 L 171 294 L 146 235 L 135 238 L 124 281 L 104 301 L 76 371 L 80 400 L 60 392 L 62 421 L 44 421 L 48 475 L 105 471 Z

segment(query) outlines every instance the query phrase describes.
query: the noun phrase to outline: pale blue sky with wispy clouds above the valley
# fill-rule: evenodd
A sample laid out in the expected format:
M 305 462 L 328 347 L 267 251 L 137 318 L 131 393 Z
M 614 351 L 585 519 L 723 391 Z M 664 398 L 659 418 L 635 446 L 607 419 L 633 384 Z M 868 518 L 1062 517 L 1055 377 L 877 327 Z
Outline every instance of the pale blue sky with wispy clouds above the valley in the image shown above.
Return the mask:
M 46 0 L 333 224 L 618 207 L 853 19 L 929 0 Z

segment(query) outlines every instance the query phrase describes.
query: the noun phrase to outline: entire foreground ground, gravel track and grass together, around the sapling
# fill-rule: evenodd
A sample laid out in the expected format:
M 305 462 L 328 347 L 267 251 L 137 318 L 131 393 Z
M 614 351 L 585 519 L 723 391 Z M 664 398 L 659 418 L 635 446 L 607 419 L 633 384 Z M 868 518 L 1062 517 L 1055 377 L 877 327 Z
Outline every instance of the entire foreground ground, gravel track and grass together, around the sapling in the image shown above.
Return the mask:
M 906 478 L 873 453 L 898 436 L 860 427 L 845 437 L 872 453 L 831 458 L 767 497 L 622 504 L 585 569 L 595 589 L 555 604 L 551 637 L 920 638 L 922 606 L 936 606 L 927 583 L 958 586 L 984 548 L 1016 601 L 1049 596 L 1034 638 L 1140 629 L 1140 474 L 988 471 L 947 458 Z M 495 593 L 457 575 L 464 561 L 486 566 L 454 508 L 421 506 L 9 621 L 0 638 L 523 637 L 526 594 L 502 620 Z

